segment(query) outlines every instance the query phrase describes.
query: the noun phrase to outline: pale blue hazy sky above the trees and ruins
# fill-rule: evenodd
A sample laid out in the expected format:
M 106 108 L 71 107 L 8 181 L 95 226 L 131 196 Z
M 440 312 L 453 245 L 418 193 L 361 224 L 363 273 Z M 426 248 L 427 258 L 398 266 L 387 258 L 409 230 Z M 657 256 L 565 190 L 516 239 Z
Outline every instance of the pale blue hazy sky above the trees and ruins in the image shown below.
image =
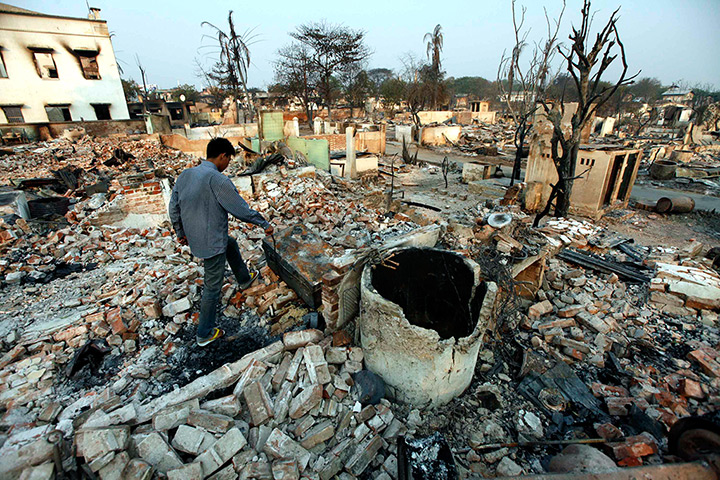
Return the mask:
M 85 0 L 2 1 L 49 14 L 87 15 Z M 519 0 L 518 4 L 528 6 L 531 40 L 545 34 L 542 5 L 551 16 L 562 6 L 560 0 Z M 567 0 L 562 41 L 567 42 L 571 24 L 578 24 L 581 4 Z M 137 54 L 148 81 L 163 88 L 202 85 L 193 60 L 207 57 L 208 50 L 199 47 L 211 43 L 203 35 L 212 31 L 200 24 L 205 20 L 224 28 L 231 9 L 238 29 L 254 29 L 257 34 L 249 83 L 259 88 L 272 82 L 275 52 L 290 42 L 288 32 L 303 22 L 325 19 L 365 30 L 367 45 L 374 51 L 370 68 L 399 69 L 406 52 L 425 55 L 423 35 L 438 23 L 445 37 L 443 67 L 449 76 L 495 79 L 503 50 L 513 45 L 510 0 L 90 0 L 90 5 L 102 9 L 101 18 L 114 34 L 124 76 L 140 79 Z M 618 25 L 633 72 L 641 69 L 641 76 L 657 77 L 663 84 L 684 80 L 720 88 L 720 0 L 596 0 L 595 26 L 604 25 L 617 6 L 622 7 Z

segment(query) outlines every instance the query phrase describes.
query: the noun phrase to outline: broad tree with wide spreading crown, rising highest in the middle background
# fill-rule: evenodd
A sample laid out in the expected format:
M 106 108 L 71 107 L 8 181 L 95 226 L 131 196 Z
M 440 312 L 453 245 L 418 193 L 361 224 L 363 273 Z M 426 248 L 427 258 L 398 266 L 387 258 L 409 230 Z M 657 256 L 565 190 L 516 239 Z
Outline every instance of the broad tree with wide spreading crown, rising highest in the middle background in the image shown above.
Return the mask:
M 302 24 L 290 36 L 309 50 L 318 75 L 317 91 L 328 109 L 328 119 L 331 119 L 337 91 L 335 76 L 370 56 L 364 43 L 365 32 L 321 21 Z

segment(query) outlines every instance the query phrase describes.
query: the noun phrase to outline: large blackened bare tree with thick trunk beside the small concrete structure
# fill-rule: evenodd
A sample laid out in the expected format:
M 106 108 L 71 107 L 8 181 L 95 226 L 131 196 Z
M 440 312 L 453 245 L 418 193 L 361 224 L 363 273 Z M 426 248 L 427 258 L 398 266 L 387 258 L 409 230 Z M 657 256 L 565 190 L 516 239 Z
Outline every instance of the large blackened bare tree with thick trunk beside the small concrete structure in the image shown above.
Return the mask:
M 577 90 L 578 105 L 570 121 L 569 133 L 563 129 L 562 118 L 565 113 L 563 98 L 556 108 L 547 101 L 542 102 L 547 119 L 552 124 L 552 138 L 550 149 L 553 163 L 558 173 L 558 181 L 553 185 L 556 191 L 555 216 L 567 216 L 570 208 L 570 194 L 573 183 L 578 178 L 575 173 L 580 136 L 583 128 L 592 118 L 595 111 L 612 97 L 622 85 L 633 83 L 635 75 L 628 76 L 628 64 L 625 56 L 625 46 L 620 40 L 617 28 L 618 11 L 615 10 L 605 26 L 597 33 L 592 42 L 591 24 L 593 15 L 590 12 L 590 0 L 584 0 L 581 10 L 582 21 L 579 28 L 573 27 L 570 35 L 570 48 L 558 46 L 558 52 L 567 62 L 567 71 L 572 77 L 572 85 Z M 591 43 L 592 42 L 592 43 Z M 601 79 L 608 67 L 620 56 L 622 63 L 621 73 L 615 83 L 603 84 Z M 548 202 L 550 203 L 550 202 Z M 549 206 L 549 205 L 548 205 Z M 546 209 L 545 212 L 549 210 Z M 542 218 L 542 213 L 535 219 L 535 223 Z

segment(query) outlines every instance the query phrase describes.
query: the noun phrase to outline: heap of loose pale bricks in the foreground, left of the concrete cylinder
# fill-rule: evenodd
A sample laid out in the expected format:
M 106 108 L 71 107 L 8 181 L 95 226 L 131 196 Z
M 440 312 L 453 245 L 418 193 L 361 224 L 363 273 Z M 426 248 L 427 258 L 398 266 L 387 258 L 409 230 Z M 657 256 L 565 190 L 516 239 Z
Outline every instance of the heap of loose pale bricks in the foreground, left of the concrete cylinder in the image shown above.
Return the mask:
M 396 478 L 396 439 L 408 428 L 387 400 L 358 401 L 353 375 L 362 368 L 363 352 L 349 346 L 345 332 L 288 332 L 222 367 L 233 374 L 221 382 L 213 372 L 139 405 L 98 396 L 72 419 L 74 451 L 103 480 L 153 472 L 169 480 Z M 228 394 L 211 395 L 215 390 Z M 65 409 L 46 418 L 72 429 L 63 424 L 69 415 Z

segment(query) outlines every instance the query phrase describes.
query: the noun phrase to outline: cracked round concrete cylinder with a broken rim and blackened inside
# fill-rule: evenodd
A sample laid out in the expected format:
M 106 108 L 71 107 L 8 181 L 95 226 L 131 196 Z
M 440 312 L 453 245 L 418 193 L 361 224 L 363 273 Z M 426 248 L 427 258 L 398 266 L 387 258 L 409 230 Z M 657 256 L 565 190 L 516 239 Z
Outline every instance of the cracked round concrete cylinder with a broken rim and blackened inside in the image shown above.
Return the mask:
M 360 344 L 390 396 L 442 405 L 470 385 L 497 285 L 454 252 L 401 248 L 367 265 L 360 285 Z

